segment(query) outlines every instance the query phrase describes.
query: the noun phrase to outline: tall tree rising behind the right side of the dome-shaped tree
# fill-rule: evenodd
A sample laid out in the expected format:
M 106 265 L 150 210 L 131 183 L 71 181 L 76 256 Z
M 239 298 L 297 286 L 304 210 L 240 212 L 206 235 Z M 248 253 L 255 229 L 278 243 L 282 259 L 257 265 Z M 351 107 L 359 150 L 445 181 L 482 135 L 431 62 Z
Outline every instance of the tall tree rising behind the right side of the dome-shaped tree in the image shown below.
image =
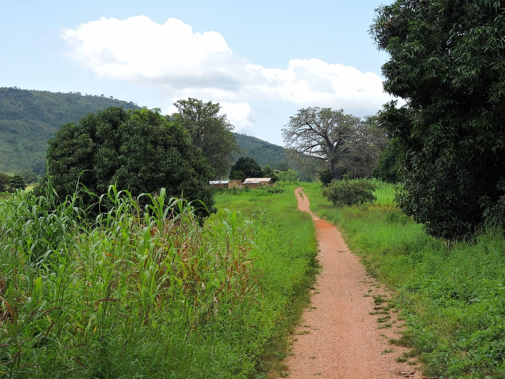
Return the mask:
M 223 178 L 230 172 L 233 156 L 240 152 L 233 125 L 220 115 L 219 103 L 204 103 L 188 98 L 174 103 L 179 113 L 172 118 L 191 134 L 193 144 L 204 151 L 204 156 L 214 170 L 215 178 Z

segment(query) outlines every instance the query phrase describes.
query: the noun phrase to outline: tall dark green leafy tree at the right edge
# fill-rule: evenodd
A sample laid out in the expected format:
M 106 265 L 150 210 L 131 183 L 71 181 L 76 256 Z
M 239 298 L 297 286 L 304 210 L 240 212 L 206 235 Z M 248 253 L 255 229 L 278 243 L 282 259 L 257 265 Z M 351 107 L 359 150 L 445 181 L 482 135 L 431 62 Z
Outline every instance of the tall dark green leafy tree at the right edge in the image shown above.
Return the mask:
M 384 88 L 406 100 L 381 116 L 405 151 L 398 204 L 437 236 L 503 223 L 504 16 L 497 1 L 397 0 L 371 26 Z

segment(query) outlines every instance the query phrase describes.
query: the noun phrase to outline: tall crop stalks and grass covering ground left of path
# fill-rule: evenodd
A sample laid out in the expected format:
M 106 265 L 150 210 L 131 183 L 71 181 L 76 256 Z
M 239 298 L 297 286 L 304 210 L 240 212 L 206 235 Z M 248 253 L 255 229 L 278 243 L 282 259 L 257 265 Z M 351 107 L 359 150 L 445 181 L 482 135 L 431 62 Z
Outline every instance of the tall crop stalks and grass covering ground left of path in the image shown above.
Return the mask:
M 284 192 L 217 195 L 198 226 L 162 193 L 0 202 L 3 377 L 266 377 L 308 300 L 312 220 Z M 167 205 L 168 204 L 168 205 Z M 242 212 L 242 214 L 236 211 Z M 277 367 L 276 367 L 277 365 Z

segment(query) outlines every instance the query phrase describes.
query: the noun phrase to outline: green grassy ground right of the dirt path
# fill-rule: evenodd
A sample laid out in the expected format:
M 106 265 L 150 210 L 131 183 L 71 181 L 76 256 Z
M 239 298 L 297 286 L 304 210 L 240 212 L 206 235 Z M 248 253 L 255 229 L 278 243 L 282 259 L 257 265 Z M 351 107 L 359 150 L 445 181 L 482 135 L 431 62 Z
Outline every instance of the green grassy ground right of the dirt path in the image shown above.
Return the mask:
M 393 343 L 412 347 L 425 373 L 443 378 L 505 377 L 505 238 L 486 230 L 466 242 L 426 235 L 393 203 L 336 208 L 305 184 L 312 210 L 338 225 L 370 273 L 394 290 L 408 331 Z

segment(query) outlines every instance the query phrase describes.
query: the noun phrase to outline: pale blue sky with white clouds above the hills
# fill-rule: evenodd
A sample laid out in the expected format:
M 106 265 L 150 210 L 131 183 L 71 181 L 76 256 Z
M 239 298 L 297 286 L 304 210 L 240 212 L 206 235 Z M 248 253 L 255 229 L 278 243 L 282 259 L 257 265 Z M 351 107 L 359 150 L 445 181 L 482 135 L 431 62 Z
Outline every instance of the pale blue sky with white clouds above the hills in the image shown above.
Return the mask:
M 368 29 L 384 2 L 0 2 L 0 87 L 105 94 L 174 112 L 219 102 L 235 131 L 283 145 L 298 109 L 366 116 L 390 97 Z

